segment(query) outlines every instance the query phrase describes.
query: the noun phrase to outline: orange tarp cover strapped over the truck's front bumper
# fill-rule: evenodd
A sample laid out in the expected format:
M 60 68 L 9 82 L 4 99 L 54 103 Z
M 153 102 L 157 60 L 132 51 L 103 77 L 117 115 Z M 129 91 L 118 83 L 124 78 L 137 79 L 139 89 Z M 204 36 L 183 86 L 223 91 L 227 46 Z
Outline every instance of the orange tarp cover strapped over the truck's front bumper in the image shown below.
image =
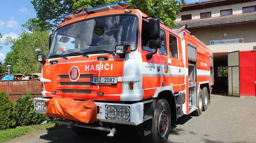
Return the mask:
M 91 100 L 75 101 L 67 98 L 52 98 L 46 103 L 46 116 L 65 118 L 85 124 L 94 123 L 97 106 Z

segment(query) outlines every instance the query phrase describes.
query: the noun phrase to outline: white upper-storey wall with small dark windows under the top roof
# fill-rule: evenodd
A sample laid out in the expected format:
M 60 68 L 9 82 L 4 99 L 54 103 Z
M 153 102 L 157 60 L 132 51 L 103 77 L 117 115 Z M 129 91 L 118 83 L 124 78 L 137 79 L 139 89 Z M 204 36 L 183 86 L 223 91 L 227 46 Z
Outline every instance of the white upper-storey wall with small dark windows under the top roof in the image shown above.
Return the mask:
M 241 0 L 242 1 L 242 0 Z M 220 11 L 221 10 L 226 10 L 226 9 L 231 9 L 232 8 L 232 13 L 233 15 L 236 14 L 241 14 L 243 13 L 243 7 L 246 6 L 255 6 L 256 1 L 252 2 L 244 2 L 240 4 L 231 4 L 227 6 L 217 6 L 217 7 L 212 7 L 212 8 L 205 8 L 205 9 L 198 9 L 198 10 L 193 10 L 193 11 L 183 11 L 180 12 L 179 15 L 176 15 L 176 22 L 181 21 L 181 15 L 192 15 L 192 19 L 200 19 L 200 13 L 205 13 L 205 12 L 211 12 L 212 17 L 219 17 L 220 16 Z

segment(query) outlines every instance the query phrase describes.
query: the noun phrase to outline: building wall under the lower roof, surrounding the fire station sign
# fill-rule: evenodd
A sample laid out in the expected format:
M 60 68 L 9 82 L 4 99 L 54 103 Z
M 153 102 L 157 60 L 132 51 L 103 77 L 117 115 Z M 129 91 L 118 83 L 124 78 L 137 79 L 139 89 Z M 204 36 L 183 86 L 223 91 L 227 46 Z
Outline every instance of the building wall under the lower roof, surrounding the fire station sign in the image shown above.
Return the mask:
M 200 39 L 213 53 L 232 52 L 236 50 L 253 50 L 256 46 L 256 24 L 234 25 L 226 27 L 211 27 L 203 29 L 190 29 L 191 35 Z M 227 37 L 223 37 L 223 33 L 227 33 Z M 210 40 L 224 40 L 243 38 L 241 44 L 225 44 L 210 45 Z

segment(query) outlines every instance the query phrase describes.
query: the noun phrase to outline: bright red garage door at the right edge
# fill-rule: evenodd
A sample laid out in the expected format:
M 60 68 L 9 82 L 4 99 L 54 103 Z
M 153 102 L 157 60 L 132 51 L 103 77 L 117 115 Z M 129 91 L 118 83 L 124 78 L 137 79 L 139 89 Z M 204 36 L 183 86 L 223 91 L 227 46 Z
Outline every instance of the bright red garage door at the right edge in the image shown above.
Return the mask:
M 255 96 L 256 91 L 256 52 L 240 52 L 240 94 L 241 96 Z

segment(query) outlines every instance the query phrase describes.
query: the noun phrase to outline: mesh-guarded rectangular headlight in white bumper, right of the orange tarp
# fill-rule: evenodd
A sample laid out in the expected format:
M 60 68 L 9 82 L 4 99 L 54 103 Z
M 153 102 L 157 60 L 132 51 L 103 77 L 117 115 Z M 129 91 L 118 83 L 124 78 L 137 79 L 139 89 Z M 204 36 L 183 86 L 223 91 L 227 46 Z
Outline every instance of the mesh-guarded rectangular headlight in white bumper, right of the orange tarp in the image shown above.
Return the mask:
M 119 105 L 106 105 L 105 117 L 110 120 L 130 121 L 130 107 Z

